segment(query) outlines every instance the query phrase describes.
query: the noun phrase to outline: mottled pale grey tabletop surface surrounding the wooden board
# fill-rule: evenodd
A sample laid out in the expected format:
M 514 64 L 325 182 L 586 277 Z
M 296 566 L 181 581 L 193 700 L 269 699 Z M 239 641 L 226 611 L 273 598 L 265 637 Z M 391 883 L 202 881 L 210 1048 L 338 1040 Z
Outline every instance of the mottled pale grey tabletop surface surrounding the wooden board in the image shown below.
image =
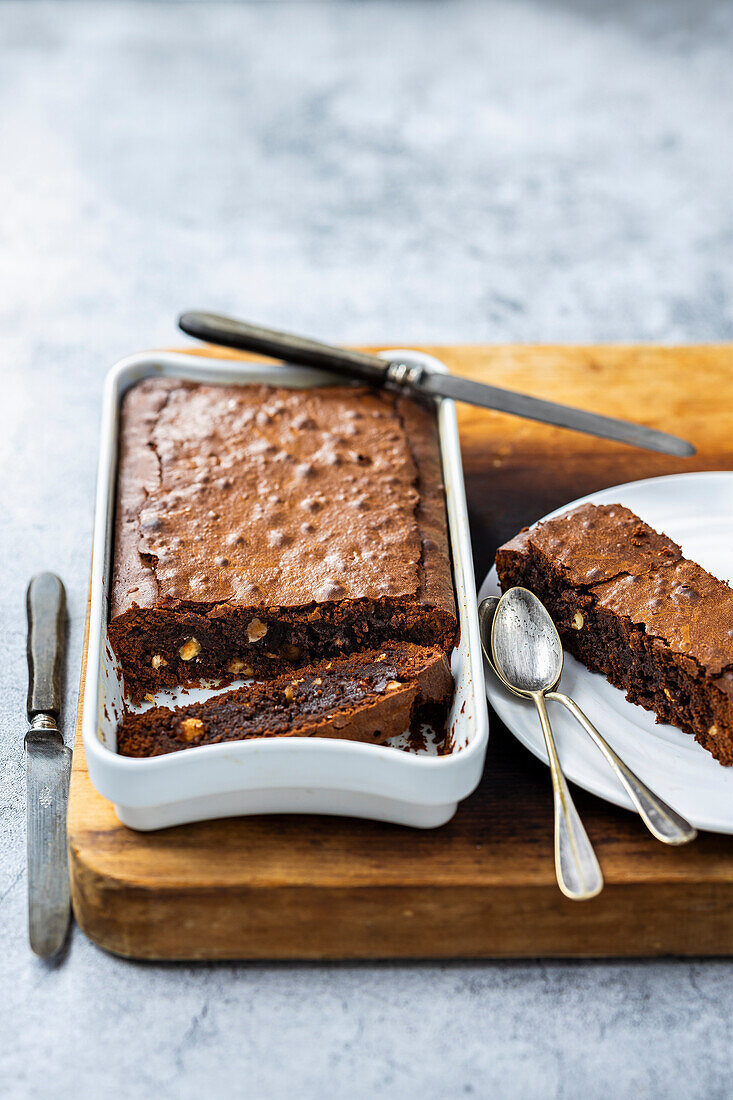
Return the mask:
M 25 942 L 23 592 L 100 387 L 215 306 L 342 340 L 733 337 L 733 8 L 0 3 L 0 1091 L 731 1096 L 724 961 L 155 967 Z

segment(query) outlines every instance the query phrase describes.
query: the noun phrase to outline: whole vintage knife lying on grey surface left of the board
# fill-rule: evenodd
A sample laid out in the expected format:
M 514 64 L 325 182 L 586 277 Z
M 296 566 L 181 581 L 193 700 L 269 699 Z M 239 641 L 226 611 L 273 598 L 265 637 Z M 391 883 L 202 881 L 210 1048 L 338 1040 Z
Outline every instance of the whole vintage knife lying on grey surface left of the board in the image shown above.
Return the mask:
M 66 593 L 54 573 L 28 586 L 28 716 L 25 798 L 28 820 L 29 938 L 36 955 L 55 955 L 70 915 L 66 806 L 72 750 L 56 719 L 61 711 Z

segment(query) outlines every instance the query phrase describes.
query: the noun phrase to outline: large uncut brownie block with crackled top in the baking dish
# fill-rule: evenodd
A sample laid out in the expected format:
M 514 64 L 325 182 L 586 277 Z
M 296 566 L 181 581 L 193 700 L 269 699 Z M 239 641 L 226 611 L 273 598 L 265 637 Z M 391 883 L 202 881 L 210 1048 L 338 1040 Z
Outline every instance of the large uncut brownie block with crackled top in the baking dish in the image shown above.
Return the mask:
M 385 640 L 448 649 L 456 626 L 429 410 L 344 386 L 125 395 L 109 640 L 131 698 Z

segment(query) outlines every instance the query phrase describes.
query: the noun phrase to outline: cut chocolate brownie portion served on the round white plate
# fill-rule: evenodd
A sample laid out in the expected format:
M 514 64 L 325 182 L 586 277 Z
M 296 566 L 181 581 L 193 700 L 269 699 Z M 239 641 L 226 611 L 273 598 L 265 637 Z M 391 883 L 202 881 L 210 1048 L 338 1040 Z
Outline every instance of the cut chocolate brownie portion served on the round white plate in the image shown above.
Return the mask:
M 535 592 L 562 644 L 632 703 L 733 765 L 733 590 L 628 508 L 581 505 L 501 547 L 503 590 Z

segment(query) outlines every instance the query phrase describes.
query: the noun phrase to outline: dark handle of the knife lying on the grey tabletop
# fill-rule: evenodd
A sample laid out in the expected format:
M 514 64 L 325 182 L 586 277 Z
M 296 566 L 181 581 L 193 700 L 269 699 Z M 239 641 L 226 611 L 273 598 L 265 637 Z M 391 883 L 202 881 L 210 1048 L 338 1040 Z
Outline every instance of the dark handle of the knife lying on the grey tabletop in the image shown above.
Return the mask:
M 55 573 L 37 573 L 28 586 L 28 713 L 61 711 L 66 592 Z

